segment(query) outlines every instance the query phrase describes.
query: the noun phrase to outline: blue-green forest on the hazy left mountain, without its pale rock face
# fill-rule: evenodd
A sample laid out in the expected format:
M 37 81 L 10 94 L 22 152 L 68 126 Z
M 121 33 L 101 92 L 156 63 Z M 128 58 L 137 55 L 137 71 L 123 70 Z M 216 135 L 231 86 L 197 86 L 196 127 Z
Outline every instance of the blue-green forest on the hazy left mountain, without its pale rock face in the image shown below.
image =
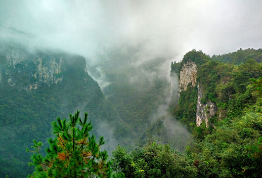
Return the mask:
M 61 82 L 57 84 L 41 82 L 38 83 L 38 89 L 24 89 L 26 83 L 31 84 L 30 80 L 35 78 L 31 75 L 31 71 L 36 70 L 34 64 L 36 54 L 28 54 L 22 61 L 23 64 L 16 68 L 9 67 L 6 63 L 0 66 L 2 77 L 0 82 L 0 118 L 2 118 L 0 119 L 2 133 L 0 135 L 0 177 L 8 175 L 9 178 L 25 178 L 32 173 L 34 168 L 28 166 L 30 158 L 24 152 L 32 142 L 32 135 L 44 145 L 47 144 L 45 140 L 52 135 L 49 123 L 57 116 L 67 117 L 65 113 L 72 113 L 75 108 L 88 112 L 88 118 L 94 126 L 91 133 L 96 136 L 101 132 L 98 126 L 100 123 L 109 127 L 114 125 L 115 135 L 125 128 L 118 112 L 105 99 L 98 84 L 85 72 L 84 57 L 61 52 L 56 54 L 43 52 L 38 57 L 41 58 L 42 55 L 49 59 L 60 59 L 63 56 Z M 11 77 L 15 83 L 13 87 L 8 84 L 8 76 L 5 73 L 10 70 L 15 76 Z M 22 84 L 23 82 L 25 84 Z M 122 132 L 119 135 L 121 137 L 125 134 Z M 107 134 L 105 134 L 105 139 L 109 139 Z M 115 145 L 107 146 L 107 150 L 110 146 L 111 150 L 115 147 Z M 41 152 L 44 154 L 44 150 Z M 13 171 L 14 168 L 16 171 Z

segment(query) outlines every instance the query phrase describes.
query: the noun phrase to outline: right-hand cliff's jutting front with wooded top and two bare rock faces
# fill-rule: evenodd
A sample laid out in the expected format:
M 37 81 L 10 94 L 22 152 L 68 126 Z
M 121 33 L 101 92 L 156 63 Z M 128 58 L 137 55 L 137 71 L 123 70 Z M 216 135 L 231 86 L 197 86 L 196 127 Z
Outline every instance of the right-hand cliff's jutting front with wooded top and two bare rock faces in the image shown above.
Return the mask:
M 202 65 L 207 61 L 208 56 L 202 51 L 192 50 L 184 56 L 183 60 L 181 61 L 181 67 L 179 70 L 178 99 L 180 110 L 184 110 L 180 111 L 180 114 L 191 112 L 190 114 L 187 114 L 186 117 L 191 117 L 188 118 L 189 121 L 192 121 L 194 117 L 196 125 L 198 127 L 201 125 L 202 122 L 205 122 L 206 127 L 208 127 L 210 125 L 209 119 L 215 116 L 218 111 L 216 103 L 210 100 L 208 100 L 208 102 L 205 101 L 205 89 L 203 89 L 202 83 L 197 79 L 199 70 L 198 65 Z M 196 86 L 197 88 L 195 88 Z M 183 97 L 181 98 L 181 92 L 187 91 L 187 89 L 190 89 L 190 91 L 188 92 L 191 93 L 189 94 L 183 92 Z M 189 98 L 191 101 L 186 101 Z M 188 105 L 186 106 L 187 108 L 185 108 L 184 105 Z

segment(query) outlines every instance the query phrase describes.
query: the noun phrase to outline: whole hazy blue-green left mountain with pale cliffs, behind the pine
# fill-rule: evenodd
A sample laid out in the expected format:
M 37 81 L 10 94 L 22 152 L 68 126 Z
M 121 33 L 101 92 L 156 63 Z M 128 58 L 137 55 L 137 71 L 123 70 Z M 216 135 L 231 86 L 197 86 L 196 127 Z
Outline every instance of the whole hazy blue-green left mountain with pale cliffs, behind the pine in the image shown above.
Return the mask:
M 29 52 L 15 44 L 1 44 L 0 54 L 0 177 L 24 178 L 32 173 L 26 147 L 33 139 L 46 143 L 51 121 L 68 118 L 77 109 L 82 115 L 88 112 L 93 133 L 105 135 L 108 149 L 115 147 L 122 121 L 88 75 L 84 57 Z

